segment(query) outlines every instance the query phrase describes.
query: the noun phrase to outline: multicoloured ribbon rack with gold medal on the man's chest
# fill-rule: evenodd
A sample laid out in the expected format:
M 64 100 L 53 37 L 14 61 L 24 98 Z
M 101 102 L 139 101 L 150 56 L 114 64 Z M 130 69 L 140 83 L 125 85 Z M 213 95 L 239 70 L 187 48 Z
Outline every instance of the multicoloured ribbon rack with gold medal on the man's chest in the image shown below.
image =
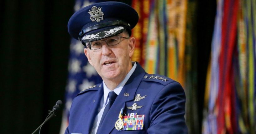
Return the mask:
M 145 115 L 137 115 L 137 113 L 128 113 L 128 116 L 123 116 L 120 119 L 122 120 L 122 122 L 117 121 L 118 123 L 122 124 L 122 128 L 118 131 L 142 130 L 144 127 L 144 118 Z

